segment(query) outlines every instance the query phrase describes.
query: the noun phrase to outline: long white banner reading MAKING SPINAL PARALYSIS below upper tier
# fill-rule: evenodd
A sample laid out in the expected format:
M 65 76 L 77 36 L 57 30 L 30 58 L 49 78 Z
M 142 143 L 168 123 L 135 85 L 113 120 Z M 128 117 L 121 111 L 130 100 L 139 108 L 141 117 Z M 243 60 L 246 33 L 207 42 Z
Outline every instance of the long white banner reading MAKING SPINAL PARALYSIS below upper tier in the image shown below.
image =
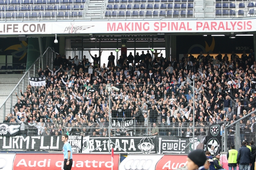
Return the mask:
M 1 35 L 76 33 L 196 33 L 256 31 L 255 18 L 223 20 L 48 21 L 0 23 Z

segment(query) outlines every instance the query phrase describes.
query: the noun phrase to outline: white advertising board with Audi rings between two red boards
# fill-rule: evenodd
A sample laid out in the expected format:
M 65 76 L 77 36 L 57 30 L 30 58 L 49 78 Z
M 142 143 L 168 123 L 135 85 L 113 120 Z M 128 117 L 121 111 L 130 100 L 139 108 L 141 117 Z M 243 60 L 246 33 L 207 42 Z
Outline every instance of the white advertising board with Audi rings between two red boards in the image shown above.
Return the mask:
M 119 170 L 155 170 L 163 155 L 128 155 L 119 165 Z

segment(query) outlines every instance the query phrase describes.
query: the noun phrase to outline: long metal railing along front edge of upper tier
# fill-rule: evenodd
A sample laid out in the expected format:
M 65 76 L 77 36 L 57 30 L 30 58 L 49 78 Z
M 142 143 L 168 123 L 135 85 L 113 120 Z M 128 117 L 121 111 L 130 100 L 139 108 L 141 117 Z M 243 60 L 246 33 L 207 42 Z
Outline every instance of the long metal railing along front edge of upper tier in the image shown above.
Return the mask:
M 32 14 L 35 12 L 36 14 Z M 49 14 L 50 12 L 50 14 Z M 133 13 L 134 12 L 134 13 Z M 16 13 L 16 14 L 15 14 Z M 20 13 L 29 13 L 19 15 Z M 148 9 L 148 10 L 99 10 L 92 11 L 92 9 L 84 10 L 37 10 L 37 11 L 20 11 L 0 12 L 0 21 L 16 21 L 16 20 L 97 20 L 97 19 L 150 19 L 155 20 L 170 20 L 170 18 L 179 20 L 186 18 L 241 18 L 241 17 L 255 17 L 255 12 L 230 12 L 230 10 L 223 11 L 216 9 L 215 12 L 194 12 L 193 9 Z

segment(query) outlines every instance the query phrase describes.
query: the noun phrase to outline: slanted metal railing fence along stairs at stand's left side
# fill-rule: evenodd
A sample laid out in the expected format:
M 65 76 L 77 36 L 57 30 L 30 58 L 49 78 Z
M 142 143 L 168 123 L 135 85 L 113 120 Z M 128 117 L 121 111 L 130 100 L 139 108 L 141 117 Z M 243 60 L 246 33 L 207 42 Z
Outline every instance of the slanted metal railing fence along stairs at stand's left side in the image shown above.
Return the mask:
M 52 63 L 56 57 L 56 54 L 50 47 L 46 49 L 46 51 L 43 53 L 42 58 L 44 61 L 41 60 L 40 57 L 36 59 L 36 61 L 28 68 L 28 70 L 24 73 L 18 84 L 14 87 L 12 92 L 8 95 L 6 100 L 0 105 L 0 122 L 4 120 L 4 117 L 8 113 L 12 113 L 14 109 L 14 105 L 17 103 L 17 97 L 16 93 L 20 94 L 20 90 L 24 92 L 26 90 L 29 80 L 28 77 L 38 76 L 38 70 L 40 67 L 46 68 L 46 65 L 49 65 L 50 69 L 52 69 Z M 21 96 L 18 95 L 18 97 L 21 99 Z

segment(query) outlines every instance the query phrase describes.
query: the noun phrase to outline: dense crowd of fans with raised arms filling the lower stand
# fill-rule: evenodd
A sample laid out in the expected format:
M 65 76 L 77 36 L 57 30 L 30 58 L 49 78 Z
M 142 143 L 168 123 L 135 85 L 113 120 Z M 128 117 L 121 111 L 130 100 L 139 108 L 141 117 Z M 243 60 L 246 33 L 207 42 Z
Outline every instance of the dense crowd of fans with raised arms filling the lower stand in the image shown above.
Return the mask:
M 179 61 L 164 58 L 161 51 L 142 51 L 135 57 L 123 52 L 116 65 L 110 53 L 107 66 L 99 64 L 101 53 L 91 57 L 93 63 L 86 56 L 66 59 L 58 55 L 52 70 L 40 68 L 38 76 L 46 77 L 46 86 L 33 89 L 28 85 L 25 92 L 16 94 L 18 103 L 4 123 L 21 123 L 24 134 L 107 136 L 110 109 L 113 125 L 133 122 L 133 135 L 189 137 L 193 110 L 196 135 L 206 135 L 205 129 L 212 123 L 233 123 L 255 110 L 252 50 L 242 56 L 232 52 L 231 59 L 221 53 L 216 57 L 190 53 Z M 111 101 L 106 84 L 120 89 L 111 92 Z M 230 139 L 235 131 L 234 126 L 228 129 Z M 240 121 L 241 141 L 254 140 L 255 132 L 254 114 L 246 122 Z M 129 135 L 121 128 L 112 128 L 110 133 Z

